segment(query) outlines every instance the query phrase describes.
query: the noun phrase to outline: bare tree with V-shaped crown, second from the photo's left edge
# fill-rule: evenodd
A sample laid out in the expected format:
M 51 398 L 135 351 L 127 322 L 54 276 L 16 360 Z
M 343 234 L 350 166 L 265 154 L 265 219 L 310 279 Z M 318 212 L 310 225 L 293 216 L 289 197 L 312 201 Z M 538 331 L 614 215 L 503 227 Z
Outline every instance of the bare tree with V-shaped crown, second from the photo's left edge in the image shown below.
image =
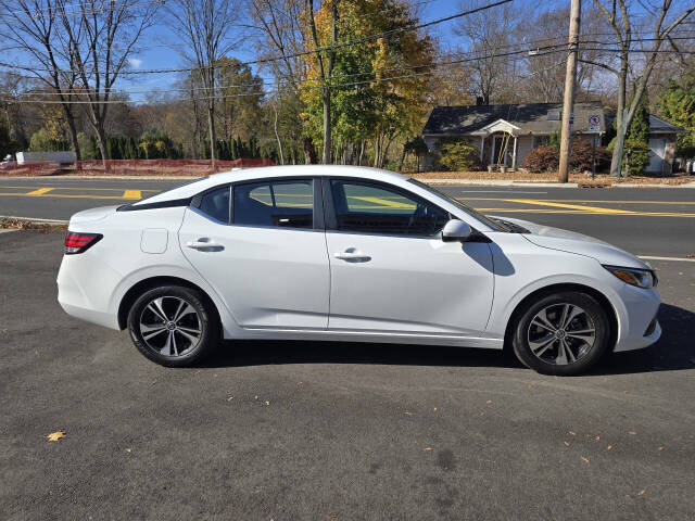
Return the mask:
M 86 100 L 89 123 L 109 170 L 106 119 L 113 86 L 128 66 L 128 56 L 154 21 L 160 2 L 139 0 L 56 0 L 64 38 Z

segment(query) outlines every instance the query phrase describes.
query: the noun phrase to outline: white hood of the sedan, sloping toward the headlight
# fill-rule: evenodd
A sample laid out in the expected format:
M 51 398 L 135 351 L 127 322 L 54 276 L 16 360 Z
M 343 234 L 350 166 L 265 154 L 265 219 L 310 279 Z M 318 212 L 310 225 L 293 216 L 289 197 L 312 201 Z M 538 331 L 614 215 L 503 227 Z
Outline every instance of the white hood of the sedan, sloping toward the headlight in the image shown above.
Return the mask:
M 561 228 L 553 228 L 552 226 L 536 225 L 528 220 L 510 219 L 507 217 L 498 218 L 500 220 L 522 226 L 529 230 L 530 233 L 523 233 L 523 237 L 536 246 L 593 257 L 605 265 L 650 269 L 647 263 L 631 253 L 593 237 L 563 230 Z

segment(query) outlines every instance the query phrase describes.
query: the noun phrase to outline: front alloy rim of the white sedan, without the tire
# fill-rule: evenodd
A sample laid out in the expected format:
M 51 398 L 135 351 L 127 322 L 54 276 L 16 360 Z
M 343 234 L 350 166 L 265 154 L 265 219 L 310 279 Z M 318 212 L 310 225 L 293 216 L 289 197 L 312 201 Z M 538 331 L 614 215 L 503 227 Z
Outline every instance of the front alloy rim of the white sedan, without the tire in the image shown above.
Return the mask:
M 529 323 L 527 340 L 538 358 L 566 366 L 589 354 L 596 340 L 596 328 L 580 306 L 552 304 L 535 314 Z

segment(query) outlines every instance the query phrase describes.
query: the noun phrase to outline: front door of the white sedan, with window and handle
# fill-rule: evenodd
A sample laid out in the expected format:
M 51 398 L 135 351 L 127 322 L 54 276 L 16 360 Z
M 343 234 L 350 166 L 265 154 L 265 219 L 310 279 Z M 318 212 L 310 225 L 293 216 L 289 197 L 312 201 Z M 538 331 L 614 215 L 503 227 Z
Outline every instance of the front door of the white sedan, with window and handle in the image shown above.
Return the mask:
M 476 335 L 493 296 L 485 242 L 444 242 L 447 212 L 400 188 L 324 183 L 331 330 Z

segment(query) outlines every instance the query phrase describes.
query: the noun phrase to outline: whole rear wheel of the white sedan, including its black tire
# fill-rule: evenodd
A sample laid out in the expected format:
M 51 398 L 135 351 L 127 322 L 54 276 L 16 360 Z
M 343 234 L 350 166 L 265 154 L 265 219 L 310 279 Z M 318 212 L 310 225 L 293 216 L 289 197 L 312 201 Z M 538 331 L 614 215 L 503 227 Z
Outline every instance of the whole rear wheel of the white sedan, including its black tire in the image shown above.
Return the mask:
M 164 312 L 167 321 L 157 310 Z M 177 310 L 186 313 L 174 322 Z M 160 325 L 163 331 L 157 333 L 155 328 Z M 149 328 L 152 329 L 143 333 Z M 217 315 L 199 291 L 164 285 L 146 291 L 135 301 L 128 313 L 128 330 L 135 346 L 150 360 L 166 367 L 187 367 L 201 361 L 217 346 L 220 328 Z M 192 338 L 198 341 L 193 343 Z

